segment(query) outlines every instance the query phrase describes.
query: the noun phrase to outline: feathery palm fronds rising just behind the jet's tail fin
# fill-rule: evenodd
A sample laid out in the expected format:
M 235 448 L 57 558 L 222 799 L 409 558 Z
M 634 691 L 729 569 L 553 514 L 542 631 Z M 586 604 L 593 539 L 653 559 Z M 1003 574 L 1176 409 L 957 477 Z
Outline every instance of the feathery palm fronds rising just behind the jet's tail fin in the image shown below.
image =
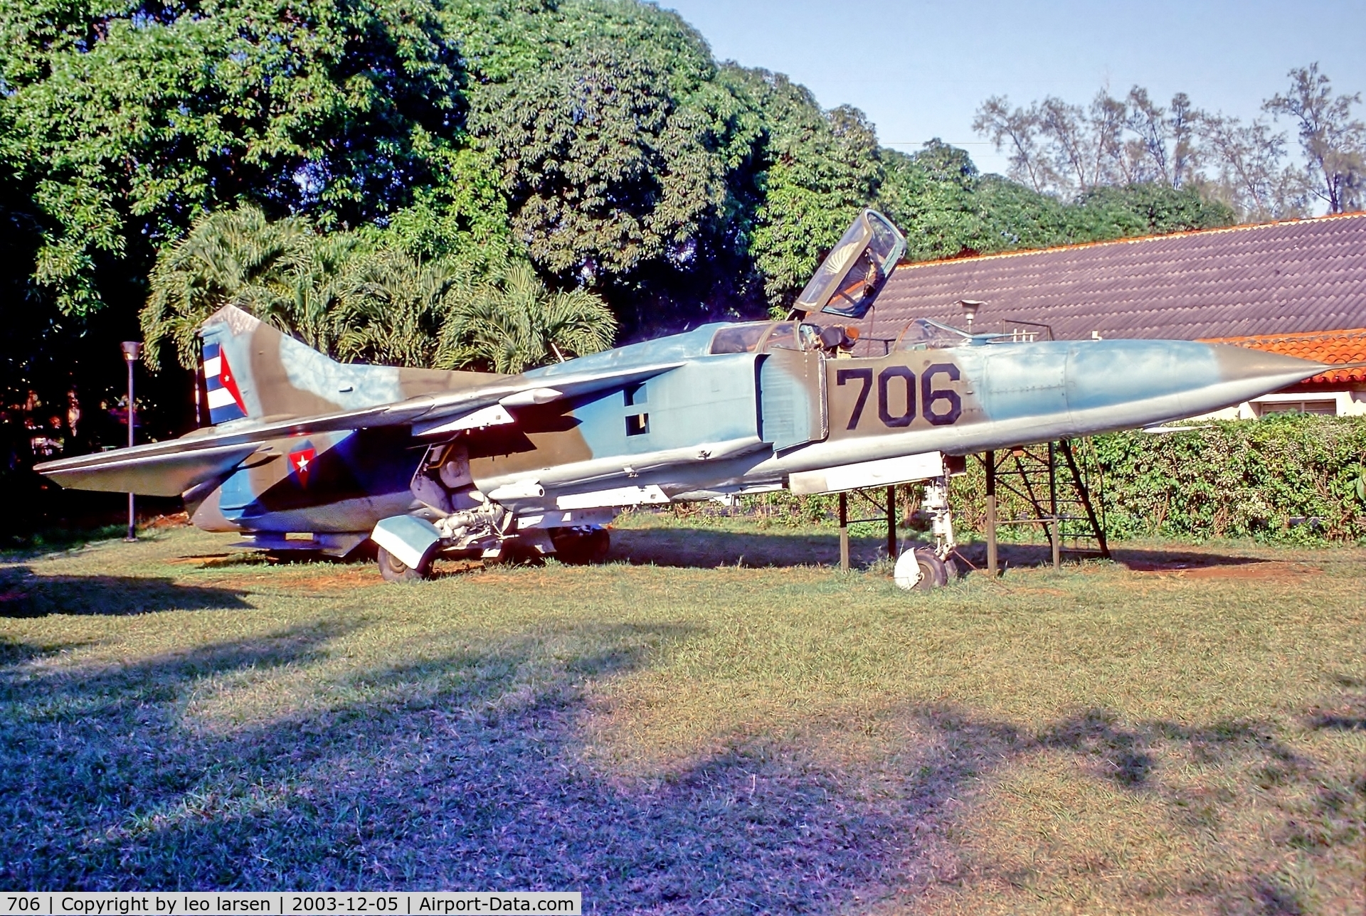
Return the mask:
M 612 344 L 594 294 L 550 291 L 526 262 L 423 259 L 382 231 L 320 235 L 254 206 L 201 217 L 161 253 L 142 310 L 148 362 L 173 344 L 198 360 L 198 330 L 225 304 L 342 360 L 519 373 Z

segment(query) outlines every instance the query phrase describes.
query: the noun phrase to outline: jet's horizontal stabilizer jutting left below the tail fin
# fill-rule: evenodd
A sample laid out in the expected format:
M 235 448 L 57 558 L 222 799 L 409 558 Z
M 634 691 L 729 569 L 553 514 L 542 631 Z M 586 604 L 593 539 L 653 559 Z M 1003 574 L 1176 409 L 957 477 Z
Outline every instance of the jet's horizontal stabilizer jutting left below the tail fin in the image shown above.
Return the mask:
M 219 445 L 193 450 L 167 450 L 165 442 L 115 452 L 96 452 L 34 470 L 74 490 L 180 496 L 186 490 L 227 475 L 260 445 Z

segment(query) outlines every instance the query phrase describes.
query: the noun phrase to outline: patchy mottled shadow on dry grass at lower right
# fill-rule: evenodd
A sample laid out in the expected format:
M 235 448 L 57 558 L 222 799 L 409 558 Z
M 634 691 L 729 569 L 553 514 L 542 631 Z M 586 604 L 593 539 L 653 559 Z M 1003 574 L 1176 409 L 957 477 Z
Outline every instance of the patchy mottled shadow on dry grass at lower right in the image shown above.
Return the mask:
M 1121 724 L 1106 710 L 1096 709 L 1048 725 L 1038 732 L 1024 732 L 1012 725 L 974 721 L 951 707 L 921 707 L 907 711 L 925 732 L 941 736 L 947 771 L 922 769 L 929 782 L 962 782 L 962 777 L 990 775 L 1008 762 L 1040 751 L 1064 751 L 1074 755 L 1090 775 L 1108 781 L 1126 792 L 1142 793 L 1147 801 L 1165 808 L 1172 820 L 1193 835 L 1217 831 L 1232 811 L 1255 804 L 1262 808 L 1268 838 L 1276 845 L 1281 863 L 1295 855 L 1318 860 L 1314 868 L 1336 861 L 1339 870 L 1359 855 L 1361 818 L 1366 814 L 1366 781 L 1359 773 L 1321 769 L 1311 758 L 1296 754 L 1276 737 L 1270 722 L 1232 721 L 1190 726 L 1169 721 Z M 1330 726 L 1332 728 L 1332 726 Z M 1184 769 L 1194 760 L 1217 775 L 1203 786 L 1172 785 L 1157 779 L 1162 762 L 1176 762 Z M 1087 766 L 1089 764 L 1089 766 Z M 1236 786 L 1236 790 L 1231 790 Z M 1212 800 L 1217 800 L 1212 804 Z M 1228 805 L 1221 811 L 1220 805 Z M 1038 825 L 1053 829 L 1050 822 Z M 1063 830 L 1065 834 L 1065 830 Z M 1235 838 L 1235 845 L 1236 845 Z M 1024 849 L 1011 849 L 1016 859 L 1029 859 Z M 996 886 L 1033 887 L 1035 871 L 1050 874 L 1061 886 L 1076 886 L 1075 867 L 1094 868 L 1096 859 L 1031 861 L 1023 871 L 1011 870 L 996 856 L 970 852 L 975 861 L 962 861 L 959 870 L 941 875 L 953 886 L 963 878 Z M 1253 857 L 1246 871 L 1235 868 L 1220 874 L 1220 863 L 1184 861 L 1190 879 L 1167 890 L 1175 909 L 1184 912 L 1201 900 L 1217 912 L 1257 912 L 1291 916 L 1315 909 L 1314 891 L 1294 868 L 1284 870 L 1274 861 Z M 1202 868 L 1210 868 L 1201 874 Z M 1142 883 L 1143 875 L 1132 878 Z M 1139 893 L 1134 909 L 1147 909 L 1154 890 Z M 1063 902 L 1063 901 L 1059 901 Z M 1143 904 L 1142 906 L 1139 904 Z M 1123 905 L 1123 904 L 1120 904 Z M 1197 909 L 1203 906 L 1195 905 Z M 1324 911 L 1328 912 L 1328 911 Z M 1335 911 L 1336 912 L 1336 911 Z

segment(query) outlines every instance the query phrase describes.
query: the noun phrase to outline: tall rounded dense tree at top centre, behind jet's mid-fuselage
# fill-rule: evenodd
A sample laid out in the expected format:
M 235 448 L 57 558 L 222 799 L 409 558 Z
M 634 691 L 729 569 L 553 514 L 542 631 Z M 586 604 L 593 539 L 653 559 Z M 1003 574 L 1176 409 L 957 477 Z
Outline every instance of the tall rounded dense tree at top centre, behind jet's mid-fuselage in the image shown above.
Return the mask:
M 683 268 L 727 198 L 732 100 L 706 44 L 676 14 L 566 3 L 505 25 L 462 7 L 470 130 L 494 152 L 514 232 L 561 283 L 630 283 Z M 537 38 L 533 40 L 531 35 Z

